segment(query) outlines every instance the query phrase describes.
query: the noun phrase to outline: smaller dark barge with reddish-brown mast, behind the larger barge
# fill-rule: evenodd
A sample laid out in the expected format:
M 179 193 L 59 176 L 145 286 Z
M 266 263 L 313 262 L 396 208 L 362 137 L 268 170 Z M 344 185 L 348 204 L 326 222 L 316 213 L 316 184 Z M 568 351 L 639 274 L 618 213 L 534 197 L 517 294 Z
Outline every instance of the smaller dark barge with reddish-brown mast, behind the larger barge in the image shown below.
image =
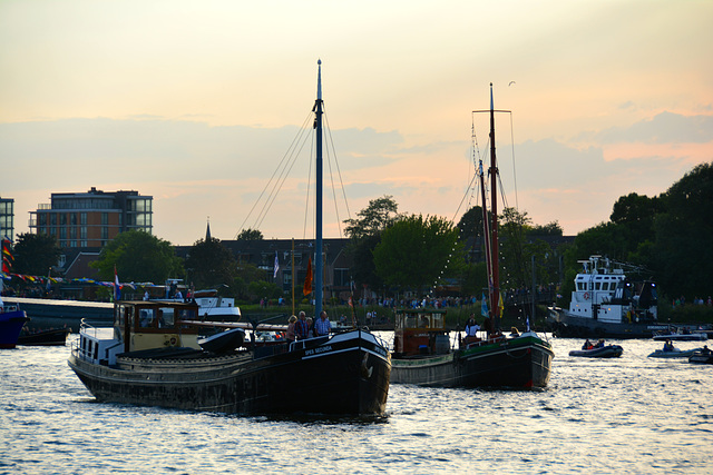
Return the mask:
M 484 197 L 485 235 L 488 236 L 488 318 L 480 337 L 467 337 L 450 347 L 445 330 L 445 311 L 410 309 L 395 314 L 391 382 L 421 386 L 541 388 L 547 386 L 551 345 L 528 328 L 506 336 L 499 328 L 500 281 L 498 253 L 498 179 L 495 148 L 495 109 L 490 85 L 490 210 L 486 211 L 482 162 L 479 164 Z M 488 222 L 490 221 L 490 222 Z

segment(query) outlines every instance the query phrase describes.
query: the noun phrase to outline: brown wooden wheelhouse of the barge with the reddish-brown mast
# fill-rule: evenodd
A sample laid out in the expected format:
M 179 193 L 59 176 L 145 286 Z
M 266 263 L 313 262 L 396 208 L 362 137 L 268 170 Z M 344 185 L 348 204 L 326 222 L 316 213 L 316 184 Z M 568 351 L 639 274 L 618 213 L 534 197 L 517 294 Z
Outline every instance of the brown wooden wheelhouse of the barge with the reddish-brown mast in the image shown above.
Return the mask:
M 446 310 L 397 309 L 394 357 L 443 355 L 450 350 Z

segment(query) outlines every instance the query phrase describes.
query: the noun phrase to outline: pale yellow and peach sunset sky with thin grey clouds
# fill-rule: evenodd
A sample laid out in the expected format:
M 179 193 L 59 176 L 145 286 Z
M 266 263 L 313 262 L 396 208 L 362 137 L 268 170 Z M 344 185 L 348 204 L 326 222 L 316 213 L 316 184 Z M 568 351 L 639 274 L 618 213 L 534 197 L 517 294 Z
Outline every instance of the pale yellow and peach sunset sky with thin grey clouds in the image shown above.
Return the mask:
M 707 0 L 1 0 L 0 196 L 16 236 L 52 192 L 96 187 L 153 196 L 174 245 L 208 220 L 310 238 L 309 144 L 258 197 L 321 59 L 325 237 L 384 195 L 456 221 L 480 205 L 490 83 L 507 206 L 576 235 L 713 161 L 711 19 Z

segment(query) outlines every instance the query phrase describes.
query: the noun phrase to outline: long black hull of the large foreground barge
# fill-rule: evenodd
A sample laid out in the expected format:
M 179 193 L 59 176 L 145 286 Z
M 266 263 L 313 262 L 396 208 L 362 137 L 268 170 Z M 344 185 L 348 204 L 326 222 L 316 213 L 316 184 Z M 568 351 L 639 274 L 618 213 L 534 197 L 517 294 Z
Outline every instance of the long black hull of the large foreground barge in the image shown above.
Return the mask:
M 116 367 L 87 363 L 72 352 L 69 366 L 101 402 L 245 415 L 384 413 L 391 364 L 370 334 L 350 331 L 292 352 L 286 345 L 262 349 L 255 358 L 126 354 Z

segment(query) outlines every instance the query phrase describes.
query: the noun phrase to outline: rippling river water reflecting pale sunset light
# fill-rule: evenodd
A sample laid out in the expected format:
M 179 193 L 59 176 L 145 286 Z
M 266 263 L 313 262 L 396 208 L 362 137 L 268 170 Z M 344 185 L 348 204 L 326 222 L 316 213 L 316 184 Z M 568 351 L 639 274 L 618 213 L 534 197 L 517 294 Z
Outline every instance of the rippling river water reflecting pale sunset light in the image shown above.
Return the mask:
M 713 365 L 618 343 L 597 360 L 554 339 L 541 392 L 392 385 L 388 416 L 331 420 L 99 404 L 68 347 L 0 350 L 0 474 L 710 472 Z

